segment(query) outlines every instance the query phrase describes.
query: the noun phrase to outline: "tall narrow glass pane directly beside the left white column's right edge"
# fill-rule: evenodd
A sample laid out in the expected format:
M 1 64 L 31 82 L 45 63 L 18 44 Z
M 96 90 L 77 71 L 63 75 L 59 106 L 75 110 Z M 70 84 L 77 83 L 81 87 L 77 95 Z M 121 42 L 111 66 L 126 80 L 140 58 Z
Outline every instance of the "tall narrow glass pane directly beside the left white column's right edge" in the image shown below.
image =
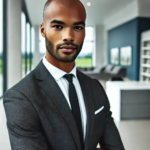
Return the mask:
M 21 48 L 21 52 L 22 52 L 22 77 L 25 76 L 26 74 L 26 16 L 25 14 L 22 12 L 21 13 L 21 36 L 22 36 L 22 48 Z

